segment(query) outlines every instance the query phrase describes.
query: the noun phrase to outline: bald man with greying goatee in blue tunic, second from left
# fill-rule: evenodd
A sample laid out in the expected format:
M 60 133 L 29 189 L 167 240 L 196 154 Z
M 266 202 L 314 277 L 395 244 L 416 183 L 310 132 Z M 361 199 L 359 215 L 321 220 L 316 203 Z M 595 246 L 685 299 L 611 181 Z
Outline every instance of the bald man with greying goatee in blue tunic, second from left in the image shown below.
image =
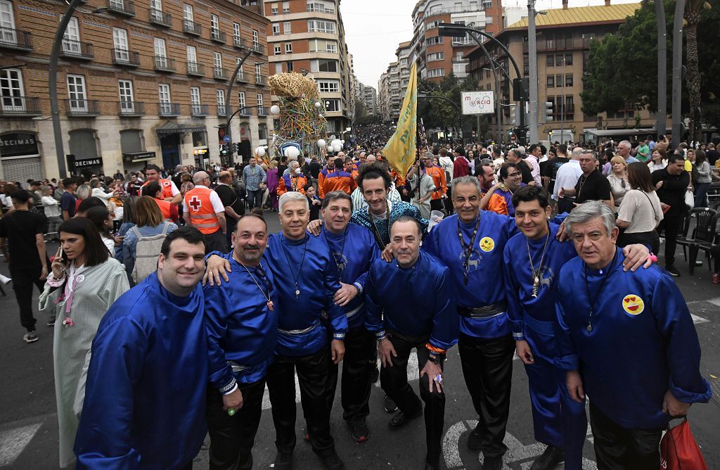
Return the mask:
M 248 213 L 232 234 L 233 251 L 223 257 L 230 282 L 206 285 L 205 327 L 210 355 L 207 427 L 210 466 L 252 469 L 253 440 L 277 343 L 278 291 L 262 257 L 267 225 Z

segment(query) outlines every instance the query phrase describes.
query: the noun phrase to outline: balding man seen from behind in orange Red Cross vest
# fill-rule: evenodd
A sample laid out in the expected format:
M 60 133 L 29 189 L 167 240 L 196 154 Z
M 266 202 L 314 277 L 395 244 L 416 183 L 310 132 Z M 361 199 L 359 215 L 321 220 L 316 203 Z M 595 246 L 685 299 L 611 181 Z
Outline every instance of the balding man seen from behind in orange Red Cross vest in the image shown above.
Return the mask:
M 192 225 L 205 237 L 205 249 L 208 253 L 228 251 L 225 221 L 225 206 L 217 192 L 208 187 L 210 176 L 207 172 L 197 172 L 192 176 L 195 187 L 185 193 L 182 217 L 187 225 Z

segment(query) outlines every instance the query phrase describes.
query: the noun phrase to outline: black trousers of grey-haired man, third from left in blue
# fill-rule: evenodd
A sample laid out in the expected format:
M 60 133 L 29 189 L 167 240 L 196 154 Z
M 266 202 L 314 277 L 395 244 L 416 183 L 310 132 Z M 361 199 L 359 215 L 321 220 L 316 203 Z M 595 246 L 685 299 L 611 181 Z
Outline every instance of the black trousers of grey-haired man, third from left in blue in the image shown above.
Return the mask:
M 331 363 L 330 348 L 323 347 L 318 353 L 297 358 L 276 356 L 275 363 L 268 369 L 268 391 L 278 451 L 291 453 L 295 447 L 295 371 L 312 451 L 323 457 L 335 451 L 327 398 Z

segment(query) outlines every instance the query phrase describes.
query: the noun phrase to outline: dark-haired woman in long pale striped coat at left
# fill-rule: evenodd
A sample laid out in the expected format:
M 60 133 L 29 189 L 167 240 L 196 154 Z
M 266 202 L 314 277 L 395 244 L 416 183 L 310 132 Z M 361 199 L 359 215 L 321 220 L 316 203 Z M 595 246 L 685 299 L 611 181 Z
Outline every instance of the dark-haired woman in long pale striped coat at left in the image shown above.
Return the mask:
M 73 443 L 85 397 L 92 340 L 112 303 L 130 288 L 94 223 L 78 217 L 63 222 L 60 247 L 40 294 L 41 312 L 57 316 L 53 338 L 55 400 L 60 426 L 60 466 L 75 461 Z

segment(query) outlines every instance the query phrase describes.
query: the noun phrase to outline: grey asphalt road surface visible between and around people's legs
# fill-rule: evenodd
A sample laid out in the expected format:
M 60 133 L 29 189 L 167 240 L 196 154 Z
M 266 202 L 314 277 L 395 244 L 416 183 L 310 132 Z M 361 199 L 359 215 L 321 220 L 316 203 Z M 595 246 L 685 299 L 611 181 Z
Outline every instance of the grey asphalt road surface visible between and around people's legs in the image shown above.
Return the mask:
M 276 216 L 269 216 L 270 231 L 279 231 Z M 50 247 L 52 249 L 52 247 Z M 698 267 L 695 275 L 688 274 L 682 254 L 678 266 L 683 272 L 677 283 L 683 291 L 702 347 L 701 373 L 714 387 L 714 400 L 709 404 L 693 405 L 689 420 L 693 435 L 701 445 L 710 469 L 720 468 L 720 285 L 713 285 L 707 265 Z M 662 265 L 662 257 L 661 257 Z M 0 262 L 0 272 L 8 275 L 7 266 Z M 53 382 L 52 329 L 45 327 L 45 317 L 38 316 L 37 332 L 40 340 L 30 345 L 22 341 L 24 329 L 19 324 L 17 303 L 12 283 L 5 286 L 7 296 L 0 296 L 0 396 L 4 403 L 0 412 L 0 469 L 56 469 L 58 468 L 58 429 L 55 414 Z M 36 291 L 37 298 L 37 291 Z M 479 469 L 477 453 L 467 450 L 467 436 L 474 427 L 474 414 L 465 387 L 459 356 L 451 350 L 446 363 L 445 390 L 447 395 L 444 463 L 448 469 Z M 525 371 L 519 360 L 513 361 L 513 393 L 505 443 L 508 469 L 529 469 L 535 456 L 544 450 L 533 438 L 530 399 Z M 417 391 L 417 363 L 411 363 L 408 376 Z M 169 391 L 168 391 L 169 392 Z M 339 392 L 338 392 L 339 394 Z M 332 429 L 338 454 L 348 469 L 421 469 L 425 458 L 425 430 L 423 420 L 411 422 L 401 430 L 390 430 L 392 417 L 382 407 L 383 393 L 379 384 L 370 399 L 368 419 L 370 438 L 356 444 L 342 420 L 339 397 L 333 409 Z M 297 469 L 322 469 L 310 445 L 302 441 L 302 409 L 298 407 L 297 437 L 294 453 Z M 269 402 L 264 402 L 260 429 L 255 440 L 253 457 L 256 469 L 270 468 L 275 455 L 274 428 Z M 207 441 L 206 441 L 207 444 Z M 592 435 L 588 430 L 585 442 L 585 469 L 595 469 Z M 443 462 L 444 461 L 444 462 Z M 195 459 L 195 468 L 207 468 L 207 448 Z M 562 468 L 562 466 L 560 467 Z

